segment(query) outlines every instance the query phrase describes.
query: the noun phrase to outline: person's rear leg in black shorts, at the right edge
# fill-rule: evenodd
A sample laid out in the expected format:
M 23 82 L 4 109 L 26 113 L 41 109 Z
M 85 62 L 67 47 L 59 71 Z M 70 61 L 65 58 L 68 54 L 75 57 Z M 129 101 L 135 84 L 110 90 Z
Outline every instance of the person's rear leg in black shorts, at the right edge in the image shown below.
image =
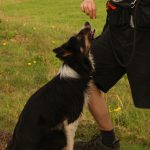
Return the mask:
M 150 1 L 137 0 L 134 58 L 126 68 L 136 107 L 150 109 Z

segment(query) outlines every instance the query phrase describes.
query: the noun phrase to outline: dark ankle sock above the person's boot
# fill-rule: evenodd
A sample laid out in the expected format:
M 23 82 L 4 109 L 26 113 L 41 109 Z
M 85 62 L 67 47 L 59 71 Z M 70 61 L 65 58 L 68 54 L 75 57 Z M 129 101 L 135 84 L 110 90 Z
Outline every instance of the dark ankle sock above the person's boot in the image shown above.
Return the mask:
M 102 135 L 102 143 L 106 146 L 112 147 L 114 141 L 116 140 L 114 130 L 110 130 L 110 131 L 101 130 L 101 135 Z

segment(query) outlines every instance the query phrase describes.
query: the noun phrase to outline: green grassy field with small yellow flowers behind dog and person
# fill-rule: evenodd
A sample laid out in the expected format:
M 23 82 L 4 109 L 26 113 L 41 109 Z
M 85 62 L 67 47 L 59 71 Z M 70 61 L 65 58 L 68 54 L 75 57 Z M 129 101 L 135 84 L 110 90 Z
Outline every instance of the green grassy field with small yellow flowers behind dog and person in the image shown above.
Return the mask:
M 90 20 L 80 0 L 0 0 L 0 130 L 12 131 L 26 100 L 58 71 L 53 48 L 90 21 L 100 34 L 105 23 L 105 0 Z M 122 150 L 148 150 L 150 111 L 134 107 L 127 77 L 106 95 Z M 88 140 L 98 128 L 85 109 L 77 137 Z M 134 144 L 134 145 L 133 145 Z M 126 146 L 127 145 L 127 146 Z

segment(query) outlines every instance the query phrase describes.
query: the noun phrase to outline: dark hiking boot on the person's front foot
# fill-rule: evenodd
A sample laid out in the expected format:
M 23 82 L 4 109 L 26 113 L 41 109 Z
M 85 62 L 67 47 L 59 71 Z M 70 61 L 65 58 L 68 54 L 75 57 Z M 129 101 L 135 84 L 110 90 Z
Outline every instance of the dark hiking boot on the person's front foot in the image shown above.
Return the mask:
M 115 140 L 111 147 L 102 143 L 101 135 L 94 136 L 89 142 L 75 142 L 74 150 L 120 150 L 119 140 Z

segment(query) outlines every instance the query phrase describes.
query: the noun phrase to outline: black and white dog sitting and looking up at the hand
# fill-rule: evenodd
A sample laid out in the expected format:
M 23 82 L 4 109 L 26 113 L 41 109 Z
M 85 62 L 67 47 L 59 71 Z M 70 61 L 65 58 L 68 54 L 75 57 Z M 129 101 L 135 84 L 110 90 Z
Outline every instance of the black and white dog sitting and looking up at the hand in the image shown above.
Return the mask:
M 63 61 L 58 75 L 33 94 L 15 127 L 8 150 L 73 150 L 77 120 L 94 70 L 88 22 L 54 49 Z

